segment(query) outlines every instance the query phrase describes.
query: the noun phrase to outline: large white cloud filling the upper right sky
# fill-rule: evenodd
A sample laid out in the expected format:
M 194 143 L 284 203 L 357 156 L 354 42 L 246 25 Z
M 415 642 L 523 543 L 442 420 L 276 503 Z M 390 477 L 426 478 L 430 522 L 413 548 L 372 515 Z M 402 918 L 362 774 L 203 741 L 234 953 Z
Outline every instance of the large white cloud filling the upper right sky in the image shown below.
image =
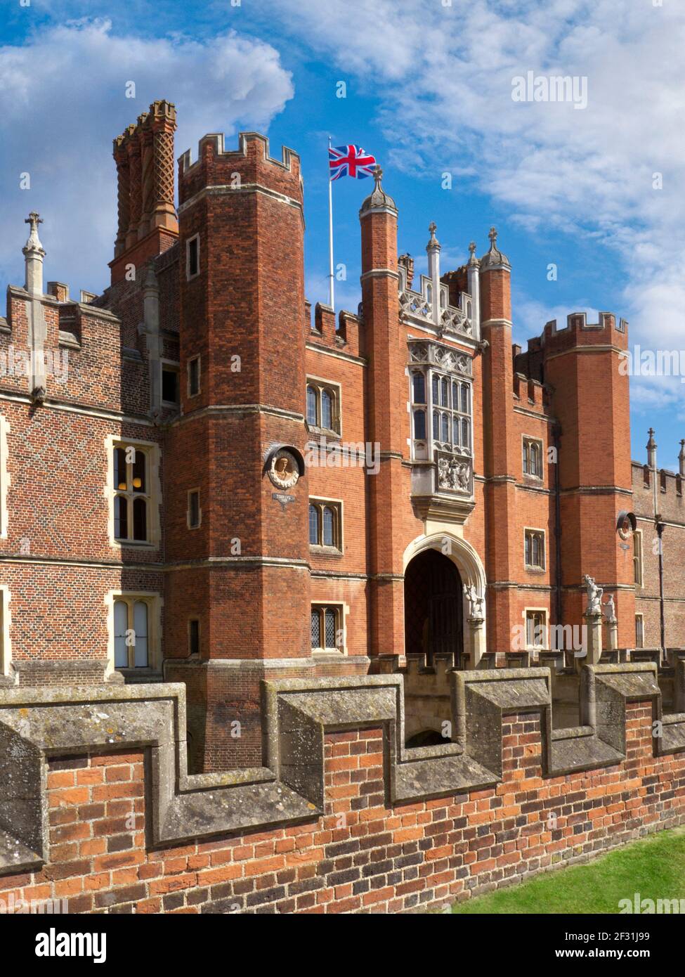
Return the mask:
M 351 18 L 347 0 L 274 2 L 340 77 L 364 72 L 396 165 L 470 172 L 520 225 L 594 235 L 631 281 L 618 310 L 631 339 L 681 334 L 683 4 L 358 0 Z M 587 107 L 514 103 L 512 78 L 528 70 L 586 76 Z

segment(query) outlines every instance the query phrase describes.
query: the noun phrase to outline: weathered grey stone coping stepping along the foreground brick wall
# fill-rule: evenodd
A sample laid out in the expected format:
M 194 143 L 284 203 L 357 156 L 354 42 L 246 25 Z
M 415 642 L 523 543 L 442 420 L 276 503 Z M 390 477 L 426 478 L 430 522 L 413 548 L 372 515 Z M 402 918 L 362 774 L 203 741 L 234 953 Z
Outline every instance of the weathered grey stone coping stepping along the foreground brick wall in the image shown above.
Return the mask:
M 662 716 L 653 663 L 583 666 L 585 725 L 555 732 L 548 668 L 452 672 L 450 682 L 452 742 L 407 749 L 401 675 L 263 681 L 265 766 L 203 775 L 187 771 L 183 685 L 0 690 L 0 873 L 47 857 L 52 757 L 144 748 L 148 835 L 158 847 L 321 815 L 330 733 L 383 730 L 391 806 L 497 785 L 511 714 L 539 716 L 544 777 L 624 759 L 629 701 L 651 702 L 663 723 L 655 756 L 685 749 L 685 714 Z

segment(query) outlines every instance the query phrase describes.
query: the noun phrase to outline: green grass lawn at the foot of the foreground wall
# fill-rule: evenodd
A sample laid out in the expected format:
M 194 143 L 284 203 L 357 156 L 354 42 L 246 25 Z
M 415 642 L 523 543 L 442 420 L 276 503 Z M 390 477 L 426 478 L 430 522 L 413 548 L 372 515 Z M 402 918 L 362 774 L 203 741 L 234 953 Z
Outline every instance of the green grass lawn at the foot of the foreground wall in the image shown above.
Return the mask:
M 452 913 L 620 913 L 621 899 L 685 900 L 685 828 L 660 831 L 587 865 L 455 903 Z

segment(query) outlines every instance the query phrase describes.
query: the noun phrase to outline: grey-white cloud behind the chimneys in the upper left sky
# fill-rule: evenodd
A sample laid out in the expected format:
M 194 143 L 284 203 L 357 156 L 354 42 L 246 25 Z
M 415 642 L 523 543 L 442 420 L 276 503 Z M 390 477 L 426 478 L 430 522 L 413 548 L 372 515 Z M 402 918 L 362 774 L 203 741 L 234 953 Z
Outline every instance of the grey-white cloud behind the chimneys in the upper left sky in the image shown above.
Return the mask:
M 127 81 L 136 98 L 125 98 Z M 176 154 L 197 152 L 207 132 L 267 127 L 292 97 L 289 72 L 269 44 L 231 31 L 205 42 L 116 35 L 109 21 L 71 21 L 0 48 L 0 139 L 4 149 L 0 272 L 22 283 L 23 218 L 39 210 L 47 278 L 72 291 L 107 285 L 116 180 L 111 140 L 150 102 L 179 114 Z M 31 190 L 21 191 L 20 174 Z M 69 280 L 78 275 L 78 280 Z

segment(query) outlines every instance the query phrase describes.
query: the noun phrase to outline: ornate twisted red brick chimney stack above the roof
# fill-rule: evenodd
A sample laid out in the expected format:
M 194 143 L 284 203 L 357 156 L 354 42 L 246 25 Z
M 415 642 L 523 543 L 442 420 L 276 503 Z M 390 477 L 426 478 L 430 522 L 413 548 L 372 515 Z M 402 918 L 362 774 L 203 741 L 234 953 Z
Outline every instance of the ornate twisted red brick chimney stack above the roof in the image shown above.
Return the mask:
M 178 237 L 174 206 L 176 108 L 153 102 L 113 143 L 118 225 L 112 284 L 133 277 L 138 266 L 171 247 Z

